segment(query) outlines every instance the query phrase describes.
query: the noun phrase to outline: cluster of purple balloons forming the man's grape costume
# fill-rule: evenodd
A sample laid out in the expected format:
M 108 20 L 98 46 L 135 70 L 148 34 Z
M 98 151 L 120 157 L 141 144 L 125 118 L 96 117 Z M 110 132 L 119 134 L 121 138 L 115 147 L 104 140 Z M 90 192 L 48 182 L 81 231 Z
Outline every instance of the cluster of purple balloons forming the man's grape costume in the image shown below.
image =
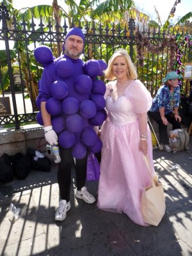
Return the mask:
M 49 65 L 54 57 L 49 47 L 42 45 L 34 51 L 36 61 L 43 67 Z M 88 60 L 84 63 L 84 73 L 76 78 L 74 88 L 76 93 L 84 98 L 68 95 L 68 84 L 65 78 L 74 74 L 72 61 L 61 58 L 56 63 L 56 73 L 61 79 L 51 84 L 51 95 L 45 104 L 51 115 L 54 131 L 63 148 L 71 148 L 72 156 L 81 159 L 86 156 L 87 149 L 97 153 L 102 148 L 102 141 L 98 138 L 93 126 L 102 125 L 106 120 L 104 93 L 106 85 L 102 80 L 95 79 L 102 76 L 107 65 L 102 60 Z M 64 80 L 64 81 L 63 81 Z M 72 93 L 71 93 L 72 94 Z M 40 109 L 40 98 L 36 98 L 36 105 Z M 41 111 L 37 113 L 37 122 L 44 125 Z

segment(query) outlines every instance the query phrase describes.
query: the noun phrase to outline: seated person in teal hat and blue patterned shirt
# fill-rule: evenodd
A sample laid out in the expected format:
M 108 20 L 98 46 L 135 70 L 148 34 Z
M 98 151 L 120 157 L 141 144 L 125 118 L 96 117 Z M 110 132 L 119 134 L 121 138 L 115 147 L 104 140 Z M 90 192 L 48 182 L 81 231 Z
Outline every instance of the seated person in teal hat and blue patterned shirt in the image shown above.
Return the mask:
M 157 91 L 148 116 L 154 119 L 159 125 L 159 142 L 163 144 L 164 150 L 172 152 L 169 147 L 167 125 L 168 122 L 174 129 L 180 129 L 181 118 L 179 116 L 180 86 L 177 72 L 172 71 L 163 78 L 163 85 Z

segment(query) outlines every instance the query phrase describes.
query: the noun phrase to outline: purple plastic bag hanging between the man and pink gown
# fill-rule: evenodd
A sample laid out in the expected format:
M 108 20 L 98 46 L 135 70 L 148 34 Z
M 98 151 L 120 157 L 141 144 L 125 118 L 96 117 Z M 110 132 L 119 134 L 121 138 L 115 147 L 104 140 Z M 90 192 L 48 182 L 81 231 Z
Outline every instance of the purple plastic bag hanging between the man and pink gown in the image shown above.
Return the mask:
M 86 180 L 99 180 L 100 166 L 93 152 L 90 152 L 87 157 L 86 164 Z

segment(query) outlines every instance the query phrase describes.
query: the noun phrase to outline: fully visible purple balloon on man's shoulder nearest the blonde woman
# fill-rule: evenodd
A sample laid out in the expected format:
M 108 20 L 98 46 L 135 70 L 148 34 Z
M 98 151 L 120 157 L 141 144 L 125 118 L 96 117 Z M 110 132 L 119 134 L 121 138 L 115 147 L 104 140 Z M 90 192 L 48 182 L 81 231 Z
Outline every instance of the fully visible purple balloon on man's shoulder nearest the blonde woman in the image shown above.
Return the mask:
M 84 72 L 90 77 L 99 76 L 99 74 L 101 73 L 100 63 L 97 60 L 86 61 L 83 68 Z

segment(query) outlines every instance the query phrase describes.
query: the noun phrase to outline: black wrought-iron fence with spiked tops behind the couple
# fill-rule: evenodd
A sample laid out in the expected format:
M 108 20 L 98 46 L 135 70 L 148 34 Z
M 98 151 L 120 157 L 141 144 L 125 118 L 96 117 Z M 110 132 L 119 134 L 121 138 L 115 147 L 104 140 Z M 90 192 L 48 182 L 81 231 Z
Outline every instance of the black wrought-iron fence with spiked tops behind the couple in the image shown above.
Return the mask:
M 35 100 L 43 68 L 36 63 L 33 50 L 38 45 L 47 45 L 55 57 L 60 56 L 68 31 L 67 20 L 59 24 L 50 18 L 44 24 L 43 17 L 39 20 L 32 17 L 28 22 L 19 22 L 17 17 L 10 17 L 1 3 L 0 21 L 0 125 L 14 124 L 19 129 L 23 123 L 35 122 L 38 111 Z M 177 70 L 183 74 L 184 63 L 192 60 L 191 31 L 165 33 L 160 29 L 140 29 L 134 19 L 129 19 L 124 27 L 115 23 L 97 24 L 93 20 L 82 22 L 79 27 L 85 35 L 84 61 L 93 58 L 108 63 L 115 49 L 124 48 L 138 69 L 139 79 L 152 95 L 161 86 L 166 72 Z M 180 81 L 180 85 L 187 95 L 189 80 Z

